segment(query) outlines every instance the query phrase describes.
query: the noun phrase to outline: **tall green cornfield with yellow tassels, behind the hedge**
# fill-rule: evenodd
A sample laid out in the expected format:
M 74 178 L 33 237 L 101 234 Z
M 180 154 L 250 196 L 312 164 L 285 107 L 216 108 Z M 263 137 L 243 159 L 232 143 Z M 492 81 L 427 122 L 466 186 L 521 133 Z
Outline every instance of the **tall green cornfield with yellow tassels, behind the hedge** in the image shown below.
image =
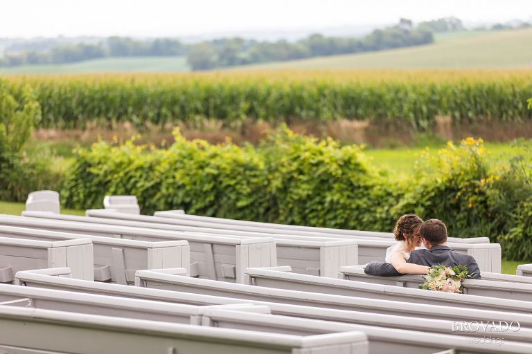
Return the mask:
M 186 75 L 27 76 L 42 107 L 40 127 L 89 122 L 141 126 L 245 119 L 267 122 L 339 118 L 427 129 L 437 115 L 455 122 L 528 120 L 531 71 L 350 71 Z

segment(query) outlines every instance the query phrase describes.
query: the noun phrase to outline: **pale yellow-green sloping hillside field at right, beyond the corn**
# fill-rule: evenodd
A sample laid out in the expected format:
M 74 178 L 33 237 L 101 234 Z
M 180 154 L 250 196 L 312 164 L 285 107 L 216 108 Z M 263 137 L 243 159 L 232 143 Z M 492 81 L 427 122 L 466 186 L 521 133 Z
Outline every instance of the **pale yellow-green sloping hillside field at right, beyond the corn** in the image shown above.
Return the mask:
M 454 37 L 453 37 L 454 35 Z M 438 39 L 438 38 L 436 38 Z M 373 53 L 332 55 L 290 62 L 238 66 L 233 70 L 323 70 L 369 68 L 528 68 L 532 29 L 457 32 L 434 44 Z

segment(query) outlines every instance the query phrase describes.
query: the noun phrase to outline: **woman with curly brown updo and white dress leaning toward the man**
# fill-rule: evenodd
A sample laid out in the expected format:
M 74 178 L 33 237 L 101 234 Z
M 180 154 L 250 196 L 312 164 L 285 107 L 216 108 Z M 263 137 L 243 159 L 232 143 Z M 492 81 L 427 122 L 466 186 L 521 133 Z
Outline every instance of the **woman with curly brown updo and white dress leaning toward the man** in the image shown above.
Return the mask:
M 393 236 L 398 243 L 386 250 L 385 260 L 402 274 L 427 274 L 429 270 L 425 265 L 407 263 L 410 252 L 422 244 L 416 232 L 422 223 L 423 220 L 416 214 L 405 214 L 398 219 L 393 229 Z

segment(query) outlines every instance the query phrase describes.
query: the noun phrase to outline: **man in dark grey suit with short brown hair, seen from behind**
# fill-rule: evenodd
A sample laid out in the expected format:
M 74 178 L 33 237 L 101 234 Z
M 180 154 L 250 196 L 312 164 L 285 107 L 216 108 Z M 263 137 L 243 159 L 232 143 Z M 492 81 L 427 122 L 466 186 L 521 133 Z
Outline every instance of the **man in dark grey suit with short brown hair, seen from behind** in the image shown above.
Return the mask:
M 407 262 L 420 265 L 465 265 L 472 279 L 481 279 L 477 261 L 468 254 L 455 252 L 447 246 L 447 227 L 443 221 L 431 218 L 418 227 L 418 235 L 425 245 L 426 250 L 414 250 L 410 253 Z M 364 269 L 366 274 L 378 275 L 380 277 L 396 277 L 403 275 L 398 272 L 390 263 L 370 262 Z

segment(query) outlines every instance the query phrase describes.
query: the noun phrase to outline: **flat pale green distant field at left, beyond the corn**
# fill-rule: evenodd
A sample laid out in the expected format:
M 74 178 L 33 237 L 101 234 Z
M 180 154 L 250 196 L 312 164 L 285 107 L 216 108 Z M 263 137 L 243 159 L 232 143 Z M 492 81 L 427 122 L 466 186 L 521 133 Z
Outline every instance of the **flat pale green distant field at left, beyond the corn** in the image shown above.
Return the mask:
M 158 73 L 190 71 L 186 57 L 113 57 L 71 64 L 0 68 L 0 74 Z

